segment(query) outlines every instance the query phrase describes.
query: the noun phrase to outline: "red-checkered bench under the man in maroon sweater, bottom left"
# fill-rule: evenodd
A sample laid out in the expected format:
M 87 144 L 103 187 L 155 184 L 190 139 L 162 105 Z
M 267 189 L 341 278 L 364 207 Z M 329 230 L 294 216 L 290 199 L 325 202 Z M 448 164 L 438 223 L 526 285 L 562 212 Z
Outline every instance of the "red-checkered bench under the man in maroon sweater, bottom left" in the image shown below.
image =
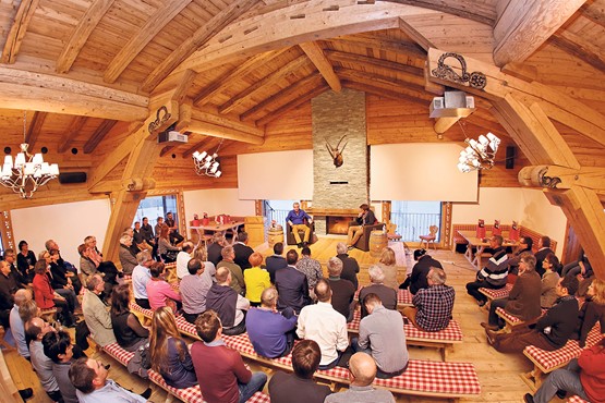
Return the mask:
M 120 364 L 126 366 L 129 361 L 134 356 L 134 353 L 128 352 L 122 349 L 118 343 L 111 343 L 106 345 L 105 347 L 100 349 L 106 354 L 110 355 L 112 358 L 118 361 Z M 164 389 L 170 398 L 174 396 L 182 402 L 186 403 L 203 403 L 204 398 L 202 396 L 202 391 L 199 386 L 196 384 L 191 388 L 186 389 L 177 389 L 168 386 L 164 380 L 164 377 L 156 373 L 153 369 L 148 370 L 149 380 Z M 171 399 L 167 399 L 167 402 L 171 401 Z M 256 392 L 247 402 L 252 403 L 269 403 L 270 399 L 268 394 L 263 392 Z

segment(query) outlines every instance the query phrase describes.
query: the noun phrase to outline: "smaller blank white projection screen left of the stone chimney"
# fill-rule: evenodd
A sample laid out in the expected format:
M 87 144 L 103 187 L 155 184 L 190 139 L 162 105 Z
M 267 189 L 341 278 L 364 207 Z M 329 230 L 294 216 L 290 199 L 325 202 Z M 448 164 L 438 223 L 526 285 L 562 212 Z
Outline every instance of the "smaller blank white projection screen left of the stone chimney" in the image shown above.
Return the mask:
M 239 155 L 238 187 L 242 200 L 311 200 L 313 150 Z

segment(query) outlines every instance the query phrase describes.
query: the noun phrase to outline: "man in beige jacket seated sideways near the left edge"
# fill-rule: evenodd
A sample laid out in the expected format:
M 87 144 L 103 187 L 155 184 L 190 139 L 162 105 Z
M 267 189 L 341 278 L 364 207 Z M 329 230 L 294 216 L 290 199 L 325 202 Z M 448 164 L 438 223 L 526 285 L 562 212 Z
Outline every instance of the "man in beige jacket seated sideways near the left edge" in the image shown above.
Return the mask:
M 90 331 L 90 337 L 101 347 L 116 343 L 111 316 L 107 312 L 107 306 L 99 297 L 105 289 L 101 277 L 99 274 L 92 276 L 86 283 L 86 289 L 88 291 L 84 293 L 82 310 L 86 326 Z

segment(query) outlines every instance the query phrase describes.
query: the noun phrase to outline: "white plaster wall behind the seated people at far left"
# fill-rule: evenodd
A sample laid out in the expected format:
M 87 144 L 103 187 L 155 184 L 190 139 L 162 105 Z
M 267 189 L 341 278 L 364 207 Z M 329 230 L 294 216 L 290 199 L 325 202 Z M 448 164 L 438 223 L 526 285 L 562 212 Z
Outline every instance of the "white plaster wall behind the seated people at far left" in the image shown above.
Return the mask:
M 15 248 L 25 240 L 37 257 L 45 242 L 52 239 L 59 244 L 63 259 L 80 268 L 77 246 L 86 236 L 94 235 L 101 247 L 110 215 L 109 199 L 11 210 Z

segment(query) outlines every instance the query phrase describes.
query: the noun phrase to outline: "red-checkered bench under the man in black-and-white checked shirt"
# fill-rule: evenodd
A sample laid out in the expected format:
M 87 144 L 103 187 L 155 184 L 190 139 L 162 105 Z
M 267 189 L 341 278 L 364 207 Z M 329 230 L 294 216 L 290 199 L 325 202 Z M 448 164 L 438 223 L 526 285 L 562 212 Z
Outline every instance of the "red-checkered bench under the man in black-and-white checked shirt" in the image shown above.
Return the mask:
M 359 333 L 361 313 L 355 310 L 353 320 L 347 323 L 347 330 L 350 333 Z M 462 343 L 462 330 L 456 320 L 450 320 L 449 326 L 440 331 L 424 331 L 414 327 L 412 323 L 403 323 L 406 332 L 406 343 L 408 345 L 420 345 L 424 347 L 433 347 L 439 350 L 441 359 L 446 361 L 447 350 L 453 347 L 453 344 Z

